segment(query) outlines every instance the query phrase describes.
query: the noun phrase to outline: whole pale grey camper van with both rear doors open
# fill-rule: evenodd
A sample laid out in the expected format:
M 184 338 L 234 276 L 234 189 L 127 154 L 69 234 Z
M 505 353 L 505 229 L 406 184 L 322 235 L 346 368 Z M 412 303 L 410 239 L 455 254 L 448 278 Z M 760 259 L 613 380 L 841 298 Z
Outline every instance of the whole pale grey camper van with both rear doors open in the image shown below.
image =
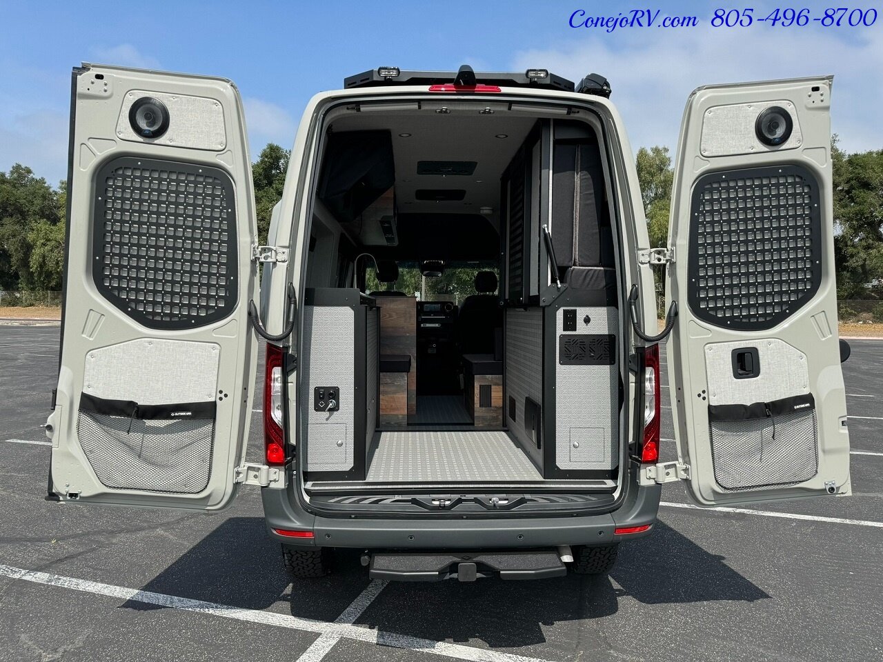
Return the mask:
M 309 102 L 260 245 L 236 87 L 84 64 L 50 498 L 212 511 L 258 485 L 295 575 L 349 547 L 471 581 L 607 572 L 670 481 L 849 494 L 831 83 L 691 94 L 651 248 L 606 79 L 366 71 Z

